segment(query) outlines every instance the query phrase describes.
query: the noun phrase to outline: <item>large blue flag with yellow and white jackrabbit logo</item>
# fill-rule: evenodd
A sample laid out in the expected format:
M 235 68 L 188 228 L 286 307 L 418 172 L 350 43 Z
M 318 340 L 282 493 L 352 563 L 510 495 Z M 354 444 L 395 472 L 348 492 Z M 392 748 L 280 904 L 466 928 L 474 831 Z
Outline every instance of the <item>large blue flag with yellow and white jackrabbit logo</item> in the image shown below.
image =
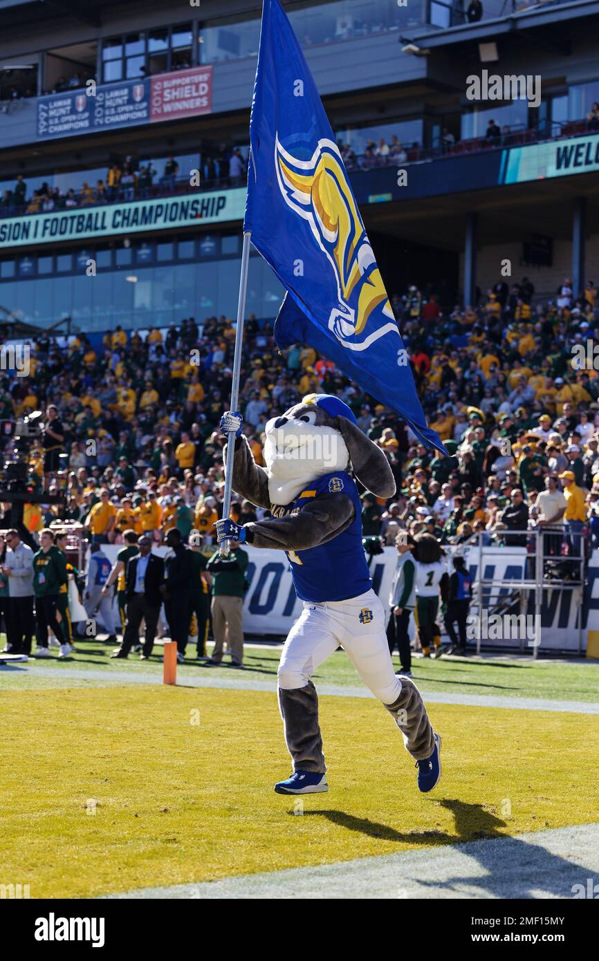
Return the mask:
M 445 453 L 427 427 L 331 124 L 279 0 L 263 0 L 250 143 L 244 231 L 287 287 L 277 344 L 310 344 Z

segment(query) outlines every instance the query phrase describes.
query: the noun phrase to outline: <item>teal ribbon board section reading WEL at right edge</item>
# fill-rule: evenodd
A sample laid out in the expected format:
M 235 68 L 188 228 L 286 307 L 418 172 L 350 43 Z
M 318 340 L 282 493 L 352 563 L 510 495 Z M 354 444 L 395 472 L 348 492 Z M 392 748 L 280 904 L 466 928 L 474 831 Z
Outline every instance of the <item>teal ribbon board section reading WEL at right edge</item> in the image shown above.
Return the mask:
M 599 170 L 599 134 L 502 151 L 500 184 L 523 184 Z

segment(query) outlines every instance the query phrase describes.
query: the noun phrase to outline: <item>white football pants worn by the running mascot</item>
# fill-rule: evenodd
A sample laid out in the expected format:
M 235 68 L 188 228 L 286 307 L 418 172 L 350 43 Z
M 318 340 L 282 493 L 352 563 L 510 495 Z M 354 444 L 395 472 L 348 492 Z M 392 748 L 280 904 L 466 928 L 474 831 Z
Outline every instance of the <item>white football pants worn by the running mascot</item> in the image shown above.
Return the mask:
M 305 687 L 338 647 L 379 701 L 397 701 L 401 680 L 395 677 L 389 654 L 385 609 L 373 590 L 349 601 L 304 602 L 281 654 L 279 687 L 287 691 Z

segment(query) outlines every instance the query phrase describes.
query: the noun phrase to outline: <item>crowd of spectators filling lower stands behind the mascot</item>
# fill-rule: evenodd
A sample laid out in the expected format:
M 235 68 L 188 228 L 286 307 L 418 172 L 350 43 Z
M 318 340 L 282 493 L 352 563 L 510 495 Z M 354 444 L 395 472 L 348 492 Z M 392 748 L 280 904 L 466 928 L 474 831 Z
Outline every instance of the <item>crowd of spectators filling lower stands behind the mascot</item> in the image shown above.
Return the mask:
M 270 417 L 306 394 L 334 393 L 385 451 L 397 482 L 387 504 L 362 493 L 364 535 L 392 544 L 406 528 L 429 530 L 443 543 L 482 533 L 487 542 L 525 544 L 525 535 L 511 531 L 549 525 L 549 553 L 574 553 L 582 532 L 588 527 L 595 538 L 599 527 L 599 378 L 592 363 L 574 361 L 576 348 L 587 350 L 597 335 L 597 290 L 589 281 L 575 296 L 564 279 L 544 305 L 535 305 L 534 292 L 527 278 L 500 282 L 479 305 L 445 311 L 435 293 L 413 285 L 393 296 L 423 407 L 449 456 L 425 450 L 392 410 L 311 347 L 279 354 L 270 324 L 250 318 L 240 409 L 254 456 L 262 462 Z M 173 527 L 184 541 L 196 529 L 211 543 L 224 486 L 218 421 L 229 404 L 234 340 L 226 317 L 207 320 L 201 331 L 193 318 L 143 335 L 117 327 L 100 347 L 84 333 L 65 347 L 40 337 L 31 377 L 2 383 L 0 418 L 57 407 L 52 419 L 63 442 L 58 451 L 50 438 L 46 448 L 62 456 L 49 462 L 46 450 L 45 473 L 56 484 L 61 467 L 68 504 L 65 513 L 28 506 L 29 529 L 62 516 L 85 522 L 100 543 L 130 528 L 158 543 Z M 43 454 L 30 465 L 36 488 Z M 261 514 L 245 502 L 233 506 L 240 523 Z

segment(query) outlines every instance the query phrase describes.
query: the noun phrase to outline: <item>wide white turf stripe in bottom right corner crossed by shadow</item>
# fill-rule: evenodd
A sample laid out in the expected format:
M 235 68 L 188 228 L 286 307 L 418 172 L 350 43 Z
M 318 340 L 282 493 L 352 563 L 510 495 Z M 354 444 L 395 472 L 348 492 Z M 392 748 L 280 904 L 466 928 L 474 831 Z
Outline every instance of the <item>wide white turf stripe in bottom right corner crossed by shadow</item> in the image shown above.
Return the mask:
M 579 825 L 103 899 L 571 899 L 573 885 L 597 883 L 598 864 L 599 825 Z

